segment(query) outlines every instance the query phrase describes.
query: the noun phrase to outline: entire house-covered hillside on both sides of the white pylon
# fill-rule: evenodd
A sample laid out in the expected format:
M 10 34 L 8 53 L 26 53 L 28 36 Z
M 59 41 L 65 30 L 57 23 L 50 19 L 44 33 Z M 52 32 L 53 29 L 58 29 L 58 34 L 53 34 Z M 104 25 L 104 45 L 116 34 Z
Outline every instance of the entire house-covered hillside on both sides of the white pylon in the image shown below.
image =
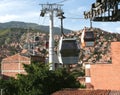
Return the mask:
M 21 23 L 22 24 L 19 24 L 23 25 L 23 27 L 26 25 L 23 22 Z M 7 27 L 7 25 L 5 25 L 4 28 L 0 29 L 0 61 L 3 58 L 18 52 L 22 52 L 26 56 L 30 56 L 33 53 L 37 55 L 46 55 L 48 53 L 45 49 L 45 42 L 48 41 L 48 32 L 33 28 L 28 30 L 25 27 L 17 27 L 16 24 L 15 28 L 14 24 L 11 24 L 11 26 L 8 23 L 6 24 L 9 28 L 5 28 L 5 26 Z M 69 37 L 77 37 L 80 42 L 81 32 L 82 30 L 70 32 L 67 35 Z M 110 33 L 99 28 L 94 28 L 94 33 L 96 35 L 95 46 L 86 47 L 84 49 L 81 48 L 80 61 L 89 61 L 92 63 L 111 63 L 112 59 L 110 44 L 113 41 L 120 41 L 120 34 Z M 56 37 L 55 45 L 58 43 L 58 38 L 59 35 Z

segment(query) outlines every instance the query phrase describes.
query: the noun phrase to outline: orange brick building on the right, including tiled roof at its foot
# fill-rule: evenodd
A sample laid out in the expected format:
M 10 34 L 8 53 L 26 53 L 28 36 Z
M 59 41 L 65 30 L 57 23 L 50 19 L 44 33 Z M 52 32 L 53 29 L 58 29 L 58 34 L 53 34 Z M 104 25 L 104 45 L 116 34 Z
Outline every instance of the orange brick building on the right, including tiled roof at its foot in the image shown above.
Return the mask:
M 111 53 L 112 63 L 85 64 L 86 89 L 64 89 L 52 95 L 120 95 L 120 42 L 111 43 Z

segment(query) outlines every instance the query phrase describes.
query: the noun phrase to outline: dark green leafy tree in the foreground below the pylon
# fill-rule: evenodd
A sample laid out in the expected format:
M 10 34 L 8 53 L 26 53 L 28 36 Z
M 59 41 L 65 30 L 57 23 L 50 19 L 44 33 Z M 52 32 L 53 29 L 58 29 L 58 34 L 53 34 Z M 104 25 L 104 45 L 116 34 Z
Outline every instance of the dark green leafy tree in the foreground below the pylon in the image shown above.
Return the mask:
M 32 63 L 25 65 L 26 75 L 19 74 L 17 79 L 0 80 L 5 95 L 50 95 L 63 88 L 79 88 L 73 74 L 65 68 L 49 70 L 49 65 Z

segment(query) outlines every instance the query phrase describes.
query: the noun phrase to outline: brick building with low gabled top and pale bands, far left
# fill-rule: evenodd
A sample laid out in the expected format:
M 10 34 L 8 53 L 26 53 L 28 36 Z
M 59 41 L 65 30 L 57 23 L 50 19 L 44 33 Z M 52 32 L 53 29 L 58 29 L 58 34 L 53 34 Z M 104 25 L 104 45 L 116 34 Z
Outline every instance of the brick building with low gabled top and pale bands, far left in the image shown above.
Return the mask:
M 13 56 L 4 58 L 1 62 L 2 76 L 16 77 L 16 74 L 25 74 L 23 64 L 30 64 L 30 58 L 15 54 Z

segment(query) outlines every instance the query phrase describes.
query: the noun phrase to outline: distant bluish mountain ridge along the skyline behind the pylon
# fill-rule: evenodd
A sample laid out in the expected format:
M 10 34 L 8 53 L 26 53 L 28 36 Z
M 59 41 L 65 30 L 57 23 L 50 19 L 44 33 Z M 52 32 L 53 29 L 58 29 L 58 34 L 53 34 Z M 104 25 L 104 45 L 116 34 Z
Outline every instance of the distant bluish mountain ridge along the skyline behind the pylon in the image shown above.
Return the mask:
M 35 23 L 25 23 L 25 22 L 18 22 L 18 21 L 11 21 L 6 23 L 0 23 L 0 30 L 2 29 L 10 29 L 10 28 L 23 28 L 23 29 L 37 29 L 44 32 L 49 32 L 49 26 L 38 25 Z M 60 34 L 60 28 L 54 27 L 53 28 L 55 34 Z M 64 29 L 64 33 L 69 33 L 71 30 Z

